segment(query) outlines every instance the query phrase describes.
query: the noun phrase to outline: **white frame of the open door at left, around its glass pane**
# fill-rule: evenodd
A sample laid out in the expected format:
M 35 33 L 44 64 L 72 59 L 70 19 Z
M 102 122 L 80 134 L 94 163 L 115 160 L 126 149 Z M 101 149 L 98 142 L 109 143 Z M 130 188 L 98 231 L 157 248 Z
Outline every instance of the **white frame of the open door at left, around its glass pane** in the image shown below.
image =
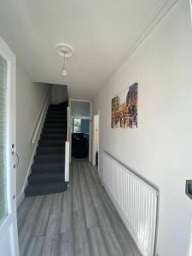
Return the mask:
M 0 238 L 9 232 L 11 255 L 19 256 L 16 212 L 16 166 L 15 166 L 15 55 L 0 37 L 0 55 L 7 61 L 7 201 L 8 216 L 0 225 Z

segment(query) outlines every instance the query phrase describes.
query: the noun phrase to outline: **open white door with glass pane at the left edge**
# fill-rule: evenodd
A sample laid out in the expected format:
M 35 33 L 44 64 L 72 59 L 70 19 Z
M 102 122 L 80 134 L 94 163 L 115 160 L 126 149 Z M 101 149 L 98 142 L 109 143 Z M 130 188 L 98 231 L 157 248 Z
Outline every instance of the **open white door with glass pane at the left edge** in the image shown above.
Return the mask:
M 15 178 L 15 55 L 0 37 L 0 255 L 2 256 L 19 256 Z

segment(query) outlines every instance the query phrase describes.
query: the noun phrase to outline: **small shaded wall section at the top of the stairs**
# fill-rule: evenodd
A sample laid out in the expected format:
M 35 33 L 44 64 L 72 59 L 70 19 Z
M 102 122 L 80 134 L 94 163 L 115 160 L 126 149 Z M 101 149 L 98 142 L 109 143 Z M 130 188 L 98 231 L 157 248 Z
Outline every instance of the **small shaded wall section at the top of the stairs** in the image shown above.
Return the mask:
M 67 86 L 54 84 L 51 90 L 51 101 L 53 104 L 59 104 L 68 100 Z

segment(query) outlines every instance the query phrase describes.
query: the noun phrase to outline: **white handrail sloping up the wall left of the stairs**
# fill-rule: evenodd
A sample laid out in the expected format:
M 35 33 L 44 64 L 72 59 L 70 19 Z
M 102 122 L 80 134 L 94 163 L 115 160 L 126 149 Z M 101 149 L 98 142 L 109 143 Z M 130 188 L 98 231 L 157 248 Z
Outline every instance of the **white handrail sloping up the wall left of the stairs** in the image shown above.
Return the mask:
M 44 124 L 44 118 L 45 118 L 45 114 L 47 113 L 47 109 L 49 107 L 49 101 L 50 101 L 50 89 L 48 91 L 48 94 L 47 96 L 45 97 L 45 100 L 44 100 L 44 106 L 41 110 L 41 114 L 38 118 L 38 123 L 35 127 L 35 130 L 33 132 L 33 135 L 32 135 L 32 144 L 34 144 L 36 141 L 37 141 L 37 138 L 39 137 L 39 134 L 40 134 L 40 131 L 41 131 L 41 128 Z

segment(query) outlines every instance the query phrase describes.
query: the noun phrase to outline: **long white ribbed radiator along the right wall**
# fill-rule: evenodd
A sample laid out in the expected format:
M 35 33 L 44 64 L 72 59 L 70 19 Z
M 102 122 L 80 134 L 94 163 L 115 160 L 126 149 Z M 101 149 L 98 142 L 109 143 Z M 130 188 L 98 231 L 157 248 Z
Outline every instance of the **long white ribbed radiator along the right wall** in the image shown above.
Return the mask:
M 153 256 L 158 192 L 107 153 L 103 184 L 141 253 Z

